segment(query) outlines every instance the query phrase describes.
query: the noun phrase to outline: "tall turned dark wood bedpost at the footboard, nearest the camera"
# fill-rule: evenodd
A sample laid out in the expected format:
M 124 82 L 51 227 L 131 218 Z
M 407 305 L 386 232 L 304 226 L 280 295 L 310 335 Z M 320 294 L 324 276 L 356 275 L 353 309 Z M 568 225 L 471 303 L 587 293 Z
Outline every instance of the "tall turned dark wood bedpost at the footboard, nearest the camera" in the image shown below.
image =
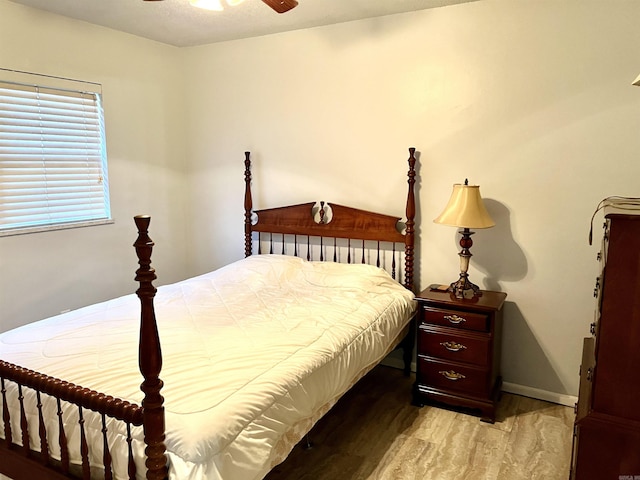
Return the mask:
M 153 297 L 156 288 L 153 281 L 156 279 L 155 270 L 151 267 L 151 251 L 153 241 L 149 238 L 148 228 L 151 217 L 138 215 L 134 217 L 138 227 L 138 238 L 133 244 L 138 255 L 140 268 L 136 270 L 136 281 L 140 282 L 140 288 L 136 291 L 140 298 L 142 312 L 140 315 L 140 347 L 139 366 L 140 373 L 144 377 L 140 389 L 144 392 L 142 400 L 144 442 L 147 445 L 147 479 L 164 480 L 168 478 L 166 447 L 164 445 L 164 398 L 160 395 L 163 383 L 160 380 L 162 370 L 162 351 L 160 350 L 160 337 L 153 307 Z

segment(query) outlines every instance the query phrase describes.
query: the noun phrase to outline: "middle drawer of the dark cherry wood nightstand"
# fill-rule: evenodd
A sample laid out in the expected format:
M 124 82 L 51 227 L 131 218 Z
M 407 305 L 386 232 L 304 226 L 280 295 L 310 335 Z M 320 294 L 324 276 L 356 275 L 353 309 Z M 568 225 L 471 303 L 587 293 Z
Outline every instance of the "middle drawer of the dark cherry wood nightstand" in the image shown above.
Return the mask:
M 418 328 L 418 352 L 420 355 L 487 367 L 490 347 L 491 337 L 489 335 L 468 334 L 461 330 L 456 331 L 425 324 Z

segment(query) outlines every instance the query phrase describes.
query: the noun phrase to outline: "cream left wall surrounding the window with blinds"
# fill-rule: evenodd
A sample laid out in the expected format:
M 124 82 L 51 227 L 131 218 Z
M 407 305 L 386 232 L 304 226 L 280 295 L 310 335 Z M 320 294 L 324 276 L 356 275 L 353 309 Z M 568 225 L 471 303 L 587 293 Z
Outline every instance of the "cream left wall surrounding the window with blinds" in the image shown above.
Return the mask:
M 1 237 L 0 331 L 133 292 L 139 213 L 152 215 L 159 282 L 187 275 L 179 62 L 179 49 L 0 0 L 0 67 L 102 84 L 115 218 Z

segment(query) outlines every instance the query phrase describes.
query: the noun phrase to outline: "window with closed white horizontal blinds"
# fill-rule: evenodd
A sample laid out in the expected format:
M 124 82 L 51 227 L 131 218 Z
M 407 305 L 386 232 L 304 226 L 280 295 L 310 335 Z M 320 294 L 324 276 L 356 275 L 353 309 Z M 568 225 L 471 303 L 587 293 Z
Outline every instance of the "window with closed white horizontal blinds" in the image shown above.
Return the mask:
M 0 236 L 110 218 L 101 94 L 0 81 Z

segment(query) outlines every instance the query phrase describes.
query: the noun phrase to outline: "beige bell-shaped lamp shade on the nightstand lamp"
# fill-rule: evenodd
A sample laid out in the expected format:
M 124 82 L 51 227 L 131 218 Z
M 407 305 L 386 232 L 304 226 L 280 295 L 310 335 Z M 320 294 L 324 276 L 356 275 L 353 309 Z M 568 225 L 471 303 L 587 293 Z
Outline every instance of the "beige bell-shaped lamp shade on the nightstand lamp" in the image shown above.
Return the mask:
M 456 183 L 449 203 L 435 223 L 462 228 L 489 228 L 496 222 L 482 202 L 479 185 L 462 185 Z

